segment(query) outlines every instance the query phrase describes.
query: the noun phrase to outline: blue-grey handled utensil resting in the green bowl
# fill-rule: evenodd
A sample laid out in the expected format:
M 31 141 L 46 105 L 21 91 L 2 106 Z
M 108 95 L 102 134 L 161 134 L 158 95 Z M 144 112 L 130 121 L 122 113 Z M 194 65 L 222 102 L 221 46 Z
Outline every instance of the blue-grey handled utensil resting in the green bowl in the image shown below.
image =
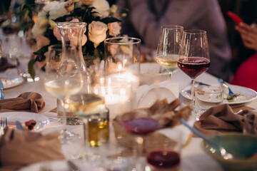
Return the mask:
M 223 147 L 221 147 L 221 145 L 219 145 L 217 142 L 211 140 L 210 138 L 206 137 L 205 135 L 203 135 L 202 133 L 200 133 L 198 130 L 196 130 L 195 128 L 191 127 L 190 125 L 188 125 L 188 123 L 186 123 L 185 120 L 183 120 L 183 118 L 181 118 L 181 123 L 183 123 L 183 125 L 185 125 L 187 128 L 189 128 L 191 131 L 193 131 L 193 133 L 195 133 L 196 135 L 198 135 L 199 137 L 203 138 L 203 140 L 206 140 L 209 144 L 213 145 L 214 147 L 216 147 L 217 150 L 219 150 L 221 156 L 225 159 L 233 159 L 235 158 L 234 155 L 232 155 L 231 153 L 227 152 Z

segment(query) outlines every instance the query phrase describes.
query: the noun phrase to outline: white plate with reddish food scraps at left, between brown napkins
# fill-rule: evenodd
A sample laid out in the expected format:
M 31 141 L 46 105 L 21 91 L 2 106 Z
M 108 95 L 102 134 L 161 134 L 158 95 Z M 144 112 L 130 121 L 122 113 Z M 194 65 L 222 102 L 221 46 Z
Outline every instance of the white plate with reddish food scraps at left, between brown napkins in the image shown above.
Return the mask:
M 0 118 L 6 117 L 8 122 L 20 121 L 22 125 L 28 120 L 36 120 L 36 126 L 34 127 L 34 132 L 39 132 L 49 125 L 49 119 L 38 113 L 29 112 L 6 112 L 0 113 Z

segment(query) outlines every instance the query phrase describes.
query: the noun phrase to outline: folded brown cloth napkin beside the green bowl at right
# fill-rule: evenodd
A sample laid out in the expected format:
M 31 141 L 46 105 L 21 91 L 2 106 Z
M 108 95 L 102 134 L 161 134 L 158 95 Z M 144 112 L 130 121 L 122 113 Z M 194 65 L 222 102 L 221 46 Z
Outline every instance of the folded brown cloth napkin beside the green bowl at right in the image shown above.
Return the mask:
M 243 110 L 240 113 L 233 113 L 228 104 L 218 105 L 209 108 L 203 113 L 193 127 L 204 135 L 215 135 L 224 132 L 242 132 L 244 122 L 243 115 L 252 113 L 250 110 Z

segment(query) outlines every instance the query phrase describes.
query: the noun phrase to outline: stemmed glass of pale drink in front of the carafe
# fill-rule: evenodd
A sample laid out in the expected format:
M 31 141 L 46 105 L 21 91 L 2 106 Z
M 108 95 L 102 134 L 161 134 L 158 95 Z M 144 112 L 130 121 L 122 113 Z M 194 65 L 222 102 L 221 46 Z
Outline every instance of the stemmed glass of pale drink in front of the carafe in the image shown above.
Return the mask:
M 49 46 L 49 54 L 46 58 L 46 76 L 44 87 L 56 98 L 61 100 L 64 108 L 64 98 L 66 95 L 76 94 L 83 86 L 82 73 L 79 66 L 81 58 L 79 56 L 61 55 L 58 46 Z M 64 128 L 61 131 L 59 139 L 63 143 L 72 142 L 78 138 L 78 135 L 66 130 L 66 113 L 64 113 Z

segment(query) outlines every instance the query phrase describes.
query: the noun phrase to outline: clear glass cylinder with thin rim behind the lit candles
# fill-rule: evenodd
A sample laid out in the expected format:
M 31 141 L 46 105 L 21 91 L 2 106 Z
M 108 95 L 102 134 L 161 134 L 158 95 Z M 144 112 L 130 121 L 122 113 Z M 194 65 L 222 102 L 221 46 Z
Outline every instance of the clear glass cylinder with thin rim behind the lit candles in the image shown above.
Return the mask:
M 106 38 L 104 72 L 106 76 L 124 78 L 135 90 L 139 85 L 141 40 L 131 37 Z

